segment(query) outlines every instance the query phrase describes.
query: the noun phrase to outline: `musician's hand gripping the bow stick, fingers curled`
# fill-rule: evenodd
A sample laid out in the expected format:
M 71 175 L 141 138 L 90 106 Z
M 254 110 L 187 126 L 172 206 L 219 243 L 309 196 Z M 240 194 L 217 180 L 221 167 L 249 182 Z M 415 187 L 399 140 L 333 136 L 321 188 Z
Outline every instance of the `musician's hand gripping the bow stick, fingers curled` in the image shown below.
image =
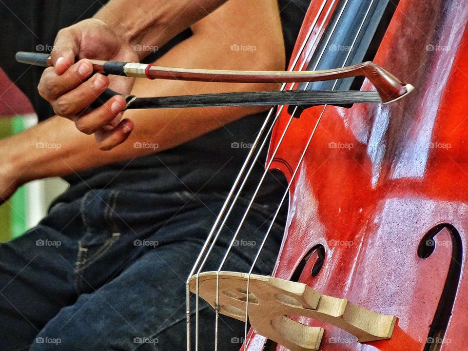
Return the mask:
M 104 22 L 89 19 L 59 31 L 51 59 L 54 67 L 44 70 L 39 93 L 55 113 L 73 120 L 81 132 L 95 134 L 103 150 L 125 141 L 133 129 L 130 120 L 121 120 L 125 99 L 116 96 L 95 110 L 89 105 L 107 88 L 130 93 L 134 79 L 93 75 L 87 59 L 136 61 L 133 48 Z

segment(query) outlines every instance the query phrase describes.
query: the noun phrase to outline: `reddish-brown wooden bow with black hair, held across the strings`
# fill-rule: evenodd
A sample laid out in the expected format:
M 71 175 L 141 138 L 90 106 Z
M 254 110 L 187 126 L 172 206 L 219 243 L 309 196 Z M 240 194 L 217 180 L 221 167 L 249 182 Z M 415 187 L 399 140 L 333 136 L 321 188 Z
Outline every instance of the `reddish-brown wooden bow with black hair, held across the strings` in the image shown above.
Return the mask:
M 48 54 L 19 52 L 16 60 L 41 67 L 52 66 Z M 172 97 L 137 98 L 123 95 L 125 109 L 277 106 L 277 105 L 341 105 L 353 103 L 390 103 L 409 94 L 414 88 L 403 83 L 373 62 L 323 71 L 227 71 L 162 67 L 154 64 L 102 61 L 90 59 L 95 73 L 148 79 L 171 79 L 223 83 L 301 83 L 364 76 L 376 91 L 313 91 L 281 90 L 233 92 Z M 116 92 L 108 89 L 99 100 L 107 101 Z

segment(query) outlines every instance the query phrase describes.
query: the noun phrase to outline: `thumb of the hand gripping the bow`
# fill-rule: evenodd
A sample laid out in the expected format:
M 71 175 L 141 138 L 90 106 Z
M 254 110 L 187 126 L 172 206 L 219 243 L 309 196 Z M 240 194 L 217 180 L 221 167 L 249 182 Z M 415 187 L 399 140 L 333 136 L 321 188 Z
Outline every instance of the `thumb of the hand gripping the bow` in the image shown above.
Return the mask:
M 50 54 L 52 64 L 58 75 L 63 74 L 75 63 L 79 52 L 80 35 L 73 28 L 64 28 L 59 31 L 55 39 L 54 48 Z

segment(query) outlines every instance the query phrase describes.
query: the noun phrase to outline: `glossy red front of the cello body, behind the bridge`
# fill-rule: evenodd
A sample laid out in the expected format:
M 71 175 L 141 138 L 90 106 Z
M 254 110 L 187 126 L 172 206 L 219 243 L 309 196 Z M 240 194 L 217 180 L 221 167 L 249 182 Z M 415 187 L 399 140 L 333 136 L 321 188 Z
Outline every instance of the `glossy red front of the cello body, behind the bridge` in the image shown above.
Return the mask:
M 298 43 L 319 7 L 312 1 Z M 291 180 L 324 111 L 292 182 L 274 276 L 398 317 L 389 340 L 360 344 L 291 316 L 325 329 L 320 350 L 467 349 L 467 24 L 465 0 L 401 0 L 373 61 L 414 92 L 387 105 L 308 108 L 274 155 L 272 168 Z M 285 109 L 271 153 L 289 118 Z M 246 349 L 265 342 L 253 335 Z

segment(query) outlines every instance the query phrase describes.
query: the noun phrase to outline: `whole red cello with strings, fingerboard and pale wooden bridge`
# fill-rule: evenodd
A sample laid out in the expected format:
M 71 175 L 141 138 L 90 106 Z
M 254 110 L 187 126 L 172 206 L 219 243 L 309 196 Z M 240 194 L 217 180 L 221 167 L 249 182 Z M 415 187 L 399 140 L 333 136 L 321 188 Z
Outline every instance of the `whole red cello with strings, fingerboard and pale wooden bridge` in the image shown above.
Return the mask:
M 242 350 L 464 350 L 467 20 L 462 0 L 312 1 L 290 70 L 373 60 L 416 89 L 391 104 L 270 112 L 273 126 L 261 130 L 234 188 L 269 141 L 266 171 L 286 176 L 289 205 L 273 277 L 224 272 L 223 262 L 204 272 L 205 250 L 187 282 L 215 308 L 216 323 L 219 314 L 245 320 Z M 347 78 L 283 88 L 372 85 Z

